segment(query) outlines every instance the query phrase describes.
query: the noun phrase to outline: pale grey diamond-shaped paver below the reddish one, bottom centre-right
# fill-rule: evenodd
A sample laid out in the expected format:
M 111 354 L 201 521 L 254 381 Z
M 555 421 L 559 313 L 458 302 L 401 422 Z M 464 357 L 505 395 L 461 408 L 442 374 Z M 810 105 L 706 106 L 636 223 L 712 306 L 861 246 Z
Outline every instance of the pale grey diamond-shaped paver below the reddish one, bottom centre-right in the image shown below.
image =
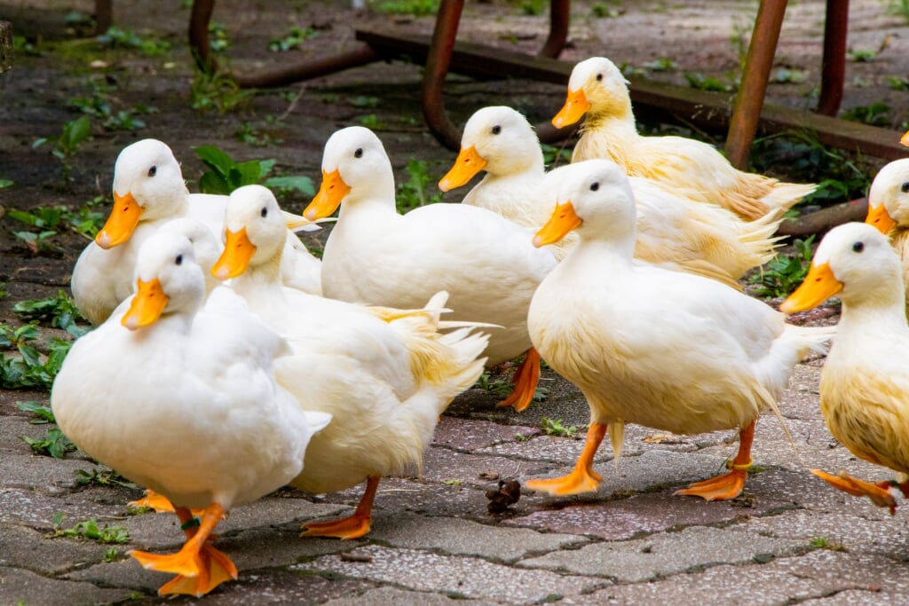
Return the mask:
M 634 541 L 606 541 L 574 551 L 554 551 L 518 565 L 637 582 L 696 567 L 772 559 L 806 547 L 803 541 L 695 527 Z

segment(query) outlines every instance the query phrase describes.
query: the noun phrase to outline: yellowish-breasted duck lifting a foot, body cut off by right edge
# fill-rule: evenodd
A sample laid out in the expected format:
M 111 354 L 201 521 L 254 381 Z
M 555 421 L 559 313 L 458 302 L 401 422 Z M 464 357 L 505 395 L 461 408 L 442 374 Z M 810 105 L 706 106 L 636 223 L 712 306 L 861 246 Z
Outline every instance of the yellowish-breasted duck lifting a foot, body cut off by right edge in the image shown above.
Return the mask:
M 836 339 L 821 371 L 821 412 L 849 452 L 894 470 L 896 482 L 864 482 L 813 470 L 835 488 L 867 496 L 894 513 L 909 497 L 909 325 L 903 266 L 886 237 L 867 224 L 843 224 L 817 246 L 811 269 L 781 309 L 794 313 L 843 302 Z

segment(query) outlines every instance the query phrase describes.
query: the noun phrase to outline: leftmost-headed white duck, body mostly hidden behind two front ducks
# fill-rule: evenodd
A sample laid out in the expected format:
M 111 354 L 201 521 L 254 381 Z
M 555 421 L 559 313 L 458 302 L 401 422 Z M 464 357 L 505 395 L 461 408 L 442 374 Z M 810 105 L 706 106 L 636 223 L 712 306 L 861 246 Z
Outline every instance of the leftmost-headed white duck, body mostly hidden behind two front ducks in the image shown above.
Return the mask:
M 133 268 L 139 247 L 167 221 L 188 216 L 221 233 L 225 195 L 190 194 L 170 147 L 156 139 L 127 145 L 114 167 L 114 208 L 95 242 L 85 247 L 73 269 L 73 298 L 89 322 L 105 321 L 133 292 Z M 288 221 L 303 226 L 299 217 Z M 295 242 L 294 242 L 295 241 Z M 295 253 L 285 254 L 285 283 L 320 293 L 320 262 L 298 238 L 288 239 Z

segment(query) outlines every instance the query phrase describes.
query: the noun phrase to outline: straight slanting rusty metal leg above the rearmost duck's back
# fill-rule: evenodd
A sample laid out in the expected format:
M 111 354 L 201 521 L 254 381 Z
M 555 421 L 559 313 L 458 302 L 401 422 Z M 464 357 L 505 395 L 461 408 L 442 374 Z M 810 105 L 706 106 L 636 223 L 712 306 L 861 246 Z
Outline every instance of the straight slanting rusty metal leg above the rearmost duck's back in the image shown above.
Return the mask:
M 735 97 L 735 108 L 726 137 L 726 157 L 739 169 L 744 170 L 748 166 L 748 156 L 751 154 L 761 109 L 764 107 L 767 80 L 770 68 L 774 65 L 776 43 L 780 38 L 785 12 L 786 0 L 761 0 L 757 9 L 742 85 Z

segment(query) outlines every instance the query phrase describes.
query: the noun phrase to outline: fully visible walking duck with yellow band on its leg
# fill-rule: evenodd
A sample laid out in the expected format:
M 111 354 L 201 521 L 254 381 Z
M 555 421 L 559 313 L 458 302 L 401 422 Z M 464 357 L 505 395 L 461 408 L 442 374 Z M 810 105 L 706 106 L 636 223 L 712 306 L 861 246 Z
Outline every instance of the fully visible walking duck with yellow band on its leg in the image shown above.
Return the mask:
M 574 230 L 579 241 L 540 284 L 527 317 L 534 347 L 590 405 L 590 430 L 574 471 L 531 480 L 532 490 L 595 492 L 596 450 L 609 431 L 616 458 L 624 422 L 674 433 L 739 431 L 731 471 L 677 494 L 708 501 L 742 491 L 754 422 L 776 410 L 795 363 L 820 351 L 832 329 L 784 315 L 722 283 L 635 264 L 634 194 L 608 160 L 565 167 L 558 204 L 538 246 Z

